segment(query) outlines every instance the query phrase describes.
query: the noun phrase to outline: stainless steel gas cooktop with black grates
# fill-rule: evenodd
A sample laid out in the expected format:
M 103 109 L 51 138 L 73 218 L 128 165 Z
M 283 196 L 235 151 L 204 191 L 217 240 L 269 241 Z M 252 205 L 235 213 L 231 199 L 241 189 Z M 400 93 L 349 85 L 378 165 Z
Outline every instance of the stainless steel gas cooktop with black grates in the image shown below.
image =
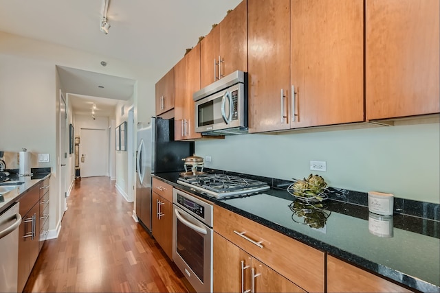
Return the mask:
M 177 183 L 192 187 L 197 191 L 225 198 L 229 196 L 244 196 L 270 189 L 270 186 L 259 180 L 242 178 L 225 174 L 201 174 L 196 176 L 180 177 Z

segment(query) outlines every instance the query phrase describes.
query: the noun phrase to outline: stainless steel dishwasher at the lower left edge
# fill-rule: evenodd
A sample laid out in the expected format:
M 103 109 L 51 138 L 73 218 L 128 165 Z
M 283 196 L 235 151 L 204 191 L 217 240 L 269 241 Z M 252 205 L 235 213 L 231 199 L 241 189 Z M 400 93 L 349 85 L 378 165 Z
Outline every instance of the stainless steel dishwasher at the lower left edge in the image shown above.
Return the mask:
M 20 224 L 17 202 L 0 215 L 0 292 L 17 292 Z

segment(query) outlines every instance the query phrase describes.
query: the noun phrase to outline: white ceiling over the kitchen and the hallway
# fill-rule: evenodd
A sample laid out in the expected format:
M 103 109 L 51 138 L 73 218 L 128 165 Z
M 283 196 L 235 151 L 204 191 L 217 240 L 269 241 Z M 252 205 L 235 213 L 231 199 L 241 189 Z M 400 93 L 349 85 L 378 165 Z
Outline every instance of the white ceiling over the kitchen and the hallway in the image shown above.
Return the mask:
M 104 0 L 0 0 L 0 31 L 100 54 L 102 60 L 144 65 L 164 74 L 184 56 L 186 48 L 196 45 L 199 36 L 208 34 L 212 24 L 240 2 L 110 0 L 107 20 L 111 27 L 106 35 L 100 31 Z M 115 104 L 129 99 L 135 84 L 135 80 L 69 67 L 58 67 L 58 73 L 76 114 L 89 115 L 96 102 L 96 116 L 113 116 Z

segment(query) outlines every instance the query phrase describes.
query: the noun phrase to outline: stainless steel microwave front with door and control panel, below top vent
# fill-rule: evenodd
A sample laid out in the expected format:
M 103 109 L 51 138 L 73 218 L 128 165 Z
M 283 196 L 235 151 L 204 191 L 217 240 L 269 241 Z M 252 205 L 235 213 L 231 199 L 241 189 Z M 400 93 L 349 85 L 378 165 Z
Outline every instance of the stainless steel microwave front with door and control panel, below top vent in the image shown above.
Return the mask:
M 195 102 L 195 132 L 247 127 L 243 84 L 235 84 Z

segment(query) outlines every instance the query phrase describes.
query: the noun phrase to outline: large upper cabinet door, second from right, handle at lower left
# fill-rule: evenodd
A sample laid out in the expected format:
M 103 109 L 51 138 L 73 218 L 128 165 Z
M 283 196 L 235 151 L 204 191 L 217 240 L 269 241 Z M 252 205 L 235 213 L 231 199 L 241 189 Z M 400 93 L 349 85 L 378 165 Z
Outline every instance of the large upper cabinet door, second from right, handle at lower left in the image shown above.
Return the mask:
M 363 0 L 292 0 L 292 128 L 364 121 L 363 15 Z

